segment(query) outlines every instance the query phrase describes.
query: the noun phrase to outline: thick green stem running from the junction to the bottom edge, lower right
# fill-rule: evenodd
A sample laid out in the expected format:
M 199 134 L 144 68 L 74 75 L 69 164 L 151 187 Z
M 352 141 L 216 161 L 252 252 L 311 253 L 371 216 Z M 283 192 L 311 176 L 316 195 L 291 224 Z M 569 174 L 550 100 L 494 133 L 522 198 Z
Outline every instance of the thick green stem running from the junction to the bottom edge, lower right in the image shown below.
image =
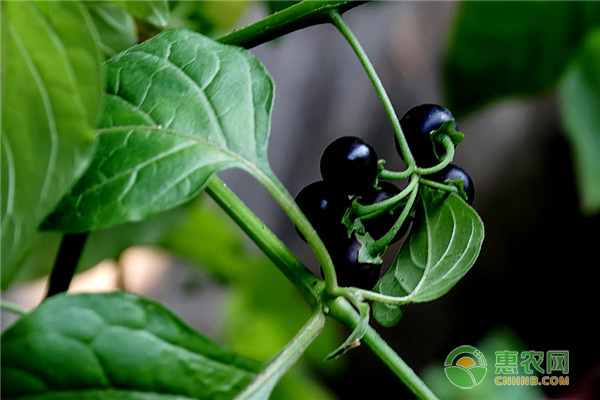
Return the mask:
M 327 305 L 330 314 L 350 329 L 355 329 L 361 323 L 360 315 L 348 300 L 338 297 L 328 302 Z M 415 371 L 398 356 L 371 326 L 367 327 L 362 341 L 400 378 L 417 398 L 426 400 L 437 399 L 436 395 L 425 385 Z

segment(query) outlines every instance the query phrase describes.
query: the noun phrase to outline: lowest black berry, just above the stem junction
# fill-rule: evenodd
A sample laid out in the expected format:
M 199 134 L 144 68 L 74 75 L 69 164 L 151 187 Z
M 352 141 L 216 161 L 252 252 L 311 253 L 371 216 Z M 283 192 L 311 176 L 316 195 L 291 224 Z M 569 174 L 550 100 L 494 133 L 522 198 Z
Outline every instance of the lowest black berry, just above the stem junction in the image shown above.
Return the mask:
M 340 286 L 371 290 L 381 276 L 380 264 L 361 263 L 358 252 L 361 244 L 352 237 L 329 249 Z

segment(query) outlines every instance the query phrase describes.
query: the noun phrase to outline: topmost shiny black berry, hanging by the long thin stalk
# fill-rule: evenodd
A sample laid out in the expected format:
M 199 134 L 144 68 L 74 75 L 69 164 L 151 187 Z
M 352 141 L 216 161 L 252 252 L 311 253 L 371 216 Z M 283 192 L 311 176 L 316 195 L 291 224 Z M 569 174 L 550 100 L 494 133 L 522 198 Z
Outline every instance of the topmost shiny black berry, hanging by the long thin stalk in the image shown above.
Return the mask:
M 402 116 L 400 126 L 419 167 L 432 167 L 439 162 L 435 156 L 429 133 L 439 129 L 444 122 L 453 119 L 454 116 L 447 108 L 436 104 L 420 104 L 411 108 Z M 458 131 L 456 122 L 454 123 L 454 130 Z M 394 140 L 394 143 L 398 154 L 402 157 L 397 140 Z M 443 153 L 443 148 L 436 149 L 438 152 Z

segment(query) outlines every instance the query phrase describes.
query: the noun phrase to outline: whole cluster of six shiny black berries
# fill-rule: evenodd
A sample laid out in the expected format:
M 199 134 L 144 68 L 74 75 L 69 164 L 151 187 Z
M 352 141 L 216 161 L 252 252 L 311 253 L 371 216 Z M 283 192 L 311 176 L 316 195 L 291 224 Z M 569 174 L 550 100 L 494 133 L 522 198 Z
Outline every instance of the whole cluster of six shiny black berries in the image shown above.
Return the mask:
M 402 130 L 417 165 L 427 167 L 439 163 L 429 133 L 451 119 L 454 117 L 448 110 L 429 104 L 416 106 L 402 117 Z M 458 130 L 456 126 L 455 130 Z M 370 205 L 393 197 L 400 189 L 386 181 L 377 182 L 377 154 L 357 137 L 344 136 L 331 142 L 321 156 L 320 167 L 322 180 L 304 187 L 296 196 L 296 203 L 327 247 L 339 285 L 372 289 L 379 280 L 381 265 L 359 262 L 361 244 L 354 235 L 348 237 L 342 218 L 356 196 L 360 196 L 360 204 Z M 428 178 L 438 182 L 462 180 L 468 201 L 472 201 L 473 184 L 459 167 L 449 165 Z M 398 207 L 363 220 L 366 232 L 375 240 L 381 238 L 392 228 L 401 211 Z M 406 234 L 408 226 L 409 222 L 403 224 L 392 243 Z

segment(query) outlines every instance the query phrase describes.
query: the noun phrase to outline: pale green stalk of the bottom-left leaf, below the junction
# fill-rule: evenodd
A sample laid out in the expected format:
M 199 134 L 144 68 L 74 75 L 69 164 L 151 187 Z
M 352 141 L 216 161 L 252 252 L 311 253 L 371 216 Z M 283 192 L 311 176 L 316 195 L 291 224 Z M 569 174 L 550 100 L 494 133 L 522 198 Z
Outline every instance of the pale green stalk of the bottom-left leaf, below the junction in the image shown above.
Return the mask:
M 325 314 L 318 308 L 296 336 L 269 362 L 268 366 L 248 385 L 236 400 L 267 398 L 277 380 L 300 358 L 325 326 Z M 260 396 L 259 396 L 260 394 Z

